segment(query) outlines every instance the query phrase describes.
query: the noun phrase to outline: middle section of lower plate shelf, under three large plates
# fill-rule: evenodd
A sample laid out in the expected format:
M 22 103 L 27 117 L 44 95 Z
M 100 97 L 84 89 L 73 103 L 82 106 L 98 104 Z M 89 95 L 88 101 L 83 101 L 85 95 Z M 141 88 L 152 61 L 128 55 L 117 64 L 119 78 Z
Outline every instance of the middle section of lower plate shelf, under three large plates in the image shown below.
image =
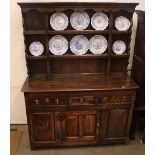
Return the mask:
M 73 54 L 65 54 L 65 55 L 50 55 L 49 58 L 56 58 L 56 59 L 102 59 L 107 58 L 108 54 L 84 54 L 84 55 L 73 55 Z

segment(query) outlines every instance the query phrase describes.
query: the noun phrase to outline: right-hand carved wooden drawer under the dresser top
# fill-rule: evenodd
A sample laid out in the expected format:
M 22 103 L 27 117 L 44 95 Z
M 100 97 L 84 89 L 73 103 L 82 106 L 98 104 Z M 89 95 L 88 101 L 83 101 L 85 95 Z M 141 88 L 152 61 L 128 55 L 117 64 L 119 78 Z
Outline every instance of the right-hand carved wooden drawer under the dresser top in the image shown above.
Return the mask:
M 100 96 L 99 103 L 125 103 L 131 102 L 131 95 Z

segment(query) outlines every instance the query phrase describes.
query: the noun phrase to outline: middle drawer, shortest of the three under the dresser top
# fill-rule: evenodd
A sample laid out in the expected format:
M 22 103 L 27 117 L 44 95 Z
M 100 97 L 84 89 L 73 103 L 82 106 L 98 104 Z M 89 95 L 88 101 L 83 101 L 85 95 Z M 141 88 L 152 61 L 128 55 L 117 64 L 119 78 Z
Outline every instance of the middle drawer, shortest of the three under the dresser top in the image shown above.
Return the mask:
M 70 97 L 69 101 L 71 105 L 95 104 L 95 97 L 93 96 Z

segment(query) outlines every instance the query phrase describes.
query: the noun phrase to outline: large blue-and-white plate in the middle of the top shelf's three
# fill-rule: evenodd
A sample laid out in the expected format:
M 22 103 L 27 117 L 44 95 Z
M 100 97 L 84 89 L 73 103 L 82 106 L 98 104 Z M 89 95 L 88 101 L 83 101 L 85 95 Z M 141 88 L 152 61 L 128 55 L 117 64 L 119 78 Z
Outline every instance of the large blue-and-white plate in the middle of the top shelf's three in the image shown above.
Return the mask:
M 86 12 L 73 12 L 70 23 L 75 30 L 84 30 L 88 27 L 90 18 Z

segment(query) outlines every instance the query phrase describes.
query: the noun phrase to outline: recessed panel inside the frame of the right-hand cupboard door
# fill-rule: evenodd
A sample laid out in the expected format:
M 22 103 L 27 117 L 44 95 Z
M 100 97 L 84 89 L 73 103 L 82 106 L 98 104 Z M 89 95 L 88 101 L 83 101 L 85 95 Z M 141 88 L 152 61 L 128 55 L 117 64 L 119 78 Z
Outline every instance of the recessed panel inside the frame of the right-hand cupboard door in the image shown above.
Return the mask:
M 128 110 L 115 109 L 109 110 L 107 137 L 125 137 L 125 130 L 127 127 Z

